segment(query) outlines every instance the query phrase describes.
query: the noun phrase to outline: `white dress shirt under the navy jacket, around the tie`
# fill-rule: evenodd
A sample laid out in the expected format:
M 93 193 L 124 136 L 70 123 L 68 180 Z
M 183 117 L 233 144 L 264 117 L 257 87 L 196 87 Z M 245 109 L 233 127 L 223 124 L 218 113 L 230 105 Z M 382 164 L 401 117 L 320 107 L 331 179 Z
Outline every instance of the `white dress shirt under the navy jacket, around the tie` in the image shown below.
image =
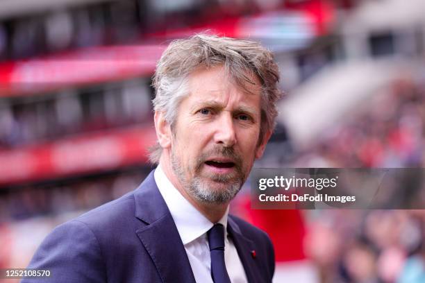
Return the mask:
M 172 214 L 174 223 L 176 223 L 178 234 L 180 234 L 181 241 L 183 241 L 186 253 L 188 254 L 195 280 L 198 283 L 213 283 L 207 232 L 213 227 L 214 223 L 211 223 L 180 194 L 172 185 L 172 182 L 169 181 L 160 165 L 158 165 L 153 175 L 156 185 L 158 185 L 158 189 L 165 203 L 167 203 L 169 212 Z M 224 225 L 224 231 L 226 231 L 224 261 L 226 262 L 227 273 L 231 282 L 245 283 L 248 280 L 247 275 L 245 275 L 244 266 L 242 266 L 238 250 L 236 250 L 232 239 L 228 237 L 226 230 L 227 215 L 228 207 L 226 213 L 218 222 Z

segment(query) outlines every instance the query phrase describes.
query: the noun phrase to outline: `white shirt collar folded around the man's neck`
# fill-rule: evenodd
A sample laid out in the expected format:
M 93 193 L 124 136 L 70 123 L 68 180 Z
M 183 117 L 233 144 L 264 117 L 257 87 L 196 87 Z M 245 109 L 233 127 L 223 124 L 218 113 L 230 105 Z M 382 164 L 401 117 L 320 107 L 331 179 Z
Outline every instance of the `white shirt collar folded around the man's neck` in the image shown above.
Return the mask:
M 153 177 L 155 178 L 160 194 L 167 204 L 169 212 L 172 214 L 174 223 L 176 223 L 176 228 L 178 234 L 180 234 L 181 241 L 183 241 L 183 245 L 201 237 L 213 227 L 214 223 L 203 216 L 172 185 L 172 182 L 167 178 L 160 165 L 156 167 Z M 224 216 L 218 221 L 218 223 L 224 225 L 224 231 L 227 231 L 227 216 L 228 206 Z

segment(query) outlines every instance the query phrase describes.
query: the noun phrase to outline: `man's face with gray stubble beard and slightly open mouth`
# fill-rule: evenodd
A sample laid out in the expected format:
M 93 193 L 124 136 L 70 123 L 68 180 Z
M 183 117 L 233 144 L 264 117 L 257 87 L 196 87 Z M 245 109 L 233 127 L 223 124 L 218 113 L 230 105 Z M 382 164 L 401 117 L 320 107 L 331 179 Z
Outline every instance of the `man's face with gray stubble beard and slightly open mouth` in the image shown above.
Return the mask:
M 222 67 L 199 69 L 172 129 L 172 169 L 183 189 L 203 203 L 227 203 L 238 193 L 256 157 L 260 134 L 260 83 L 247 94 Z

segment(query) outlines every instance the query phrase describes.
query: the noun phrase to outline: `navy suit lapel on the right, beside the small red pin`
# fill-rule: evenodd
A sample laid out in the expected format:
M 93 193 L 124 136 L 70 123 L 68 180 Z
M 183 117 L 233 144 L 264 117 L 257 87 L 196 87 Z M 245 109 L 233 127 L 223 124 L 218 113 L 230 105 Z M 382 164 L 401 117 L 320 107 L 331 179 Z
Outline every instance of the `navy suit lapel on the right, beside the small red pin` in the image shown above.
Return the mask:
M 247 275 L 247 280 L 249 283 L 258 282 L 253 271 L 255 270 L 255 262 L 251 255 L 251 251 L 255 250 L 253 241 L 247 239 L 242 235 L 239 230 L 238 224 L 233 221 L 231 217 L 228 218 L 227 225 L 228 233 L 231 234 L 233 243 L 235 243 L 236 250 L 238 250 L 238 255 L 242 265 L 244 266 L 245 274 Z

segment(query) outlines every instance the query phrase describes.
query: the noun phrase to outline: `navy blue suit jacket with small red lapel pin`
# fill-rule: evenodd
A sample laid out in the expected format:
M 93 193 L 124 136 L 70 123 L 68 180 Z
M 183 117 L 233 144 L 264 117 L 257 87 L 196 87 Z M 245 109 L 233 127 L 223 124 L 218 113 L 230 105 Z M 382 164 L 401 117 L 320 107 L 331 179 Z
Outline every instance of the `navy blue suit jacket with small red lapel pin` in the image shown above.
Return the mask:
M 235 216 L 228 217 L 228 232 L 248 281 L 272 282 L 267 234 Z M 22 282 L 195 282 L 153 172 L 135 191 L 55 228 L 28 268 L 48 269 L 51 276 Z

